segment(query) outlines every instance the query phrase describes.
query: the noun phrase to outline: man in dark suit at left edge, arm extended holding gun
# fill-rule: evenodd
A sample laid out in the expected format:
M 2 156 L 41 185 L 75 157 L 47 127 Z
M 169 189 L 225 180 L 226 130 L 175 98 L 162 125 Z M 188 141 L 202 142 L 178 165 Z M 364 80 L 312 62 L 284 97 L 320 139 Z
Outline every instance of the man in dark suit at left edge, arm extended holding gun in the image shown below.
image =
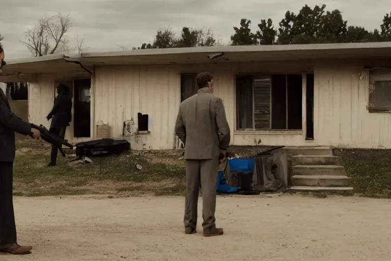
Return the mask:
M 0 74 L 4 62 L 4 49 L 0 44 Z M 15 159 L 15 132 L 33 135 L 40 132 L 11 112 L 10 105 L 0 89 L 0 252 L 11 254 L 30 253 L 32 247 L 19 246 L 16 240 L 14 206 L 12 202 L 12 175 Z

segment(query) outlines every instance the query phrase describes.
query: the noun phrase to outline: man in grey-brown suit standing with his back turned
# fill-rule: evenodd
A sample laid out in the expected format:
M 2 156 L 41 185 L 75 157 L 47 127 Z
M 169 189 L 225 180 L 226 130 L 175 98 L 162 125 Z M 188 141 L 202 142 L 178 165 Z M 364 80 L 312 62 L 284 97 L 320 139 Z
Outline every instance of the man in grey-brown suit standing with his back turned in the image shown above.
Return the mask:
M 175 133 L 185 144 L 186 200 L 185 233 L 197 232 L 197 206 L 201 182 L 203 235 L 220 236 L 216 228 L 216 184 L 219 158 L 224 158 L 230 144 L 230 127 L 222 100 L 213 93 L 213 75 L 197 75 L 197 94 L 184 100 L 180 107 Z

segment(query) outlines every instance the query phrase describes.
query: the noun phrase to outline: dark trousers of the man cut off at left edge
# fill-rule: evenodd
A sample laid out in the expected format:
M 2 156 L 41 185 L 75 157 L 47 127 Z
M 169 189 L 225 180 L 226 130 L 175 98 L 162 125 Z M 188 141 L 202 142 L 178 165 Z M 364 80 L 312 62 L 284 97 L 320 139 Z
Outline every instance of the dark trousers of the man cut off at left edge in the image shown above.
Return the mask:
M 12 175 L 13 162 L 0 162 L 0 248 L 16 243 Z

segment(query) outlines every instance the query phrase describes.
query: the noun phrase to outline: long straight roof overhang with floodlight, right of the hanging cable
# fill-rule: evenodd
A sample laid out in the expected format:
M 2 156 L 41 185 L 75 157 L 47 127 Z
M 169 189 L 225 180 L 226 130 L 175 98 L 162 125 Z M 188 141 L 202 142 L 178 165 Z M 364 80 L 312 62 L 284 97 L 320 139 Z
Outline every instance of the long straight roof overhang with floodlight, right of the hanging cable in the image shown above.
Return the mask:
M 217 59 L 210 56 L 224 54 Z M 391 58 L 391 42 L 211 46 L 83 53 L 86 65 L 200 64 L 215 62 Z

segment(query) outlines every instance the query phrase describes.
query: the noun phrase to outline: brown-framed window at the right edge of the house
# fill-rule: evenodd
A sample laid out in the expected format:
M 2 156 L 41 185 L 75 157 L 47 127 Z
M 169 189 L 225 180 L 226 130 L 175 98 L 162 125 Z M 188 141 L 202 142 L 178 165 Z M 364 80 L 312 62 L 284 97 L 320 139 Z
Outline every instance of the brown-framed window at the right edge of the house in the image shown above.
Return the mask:
M 370 112 L 391 111 L 391 71 L 370 72 L 368 109 Z

